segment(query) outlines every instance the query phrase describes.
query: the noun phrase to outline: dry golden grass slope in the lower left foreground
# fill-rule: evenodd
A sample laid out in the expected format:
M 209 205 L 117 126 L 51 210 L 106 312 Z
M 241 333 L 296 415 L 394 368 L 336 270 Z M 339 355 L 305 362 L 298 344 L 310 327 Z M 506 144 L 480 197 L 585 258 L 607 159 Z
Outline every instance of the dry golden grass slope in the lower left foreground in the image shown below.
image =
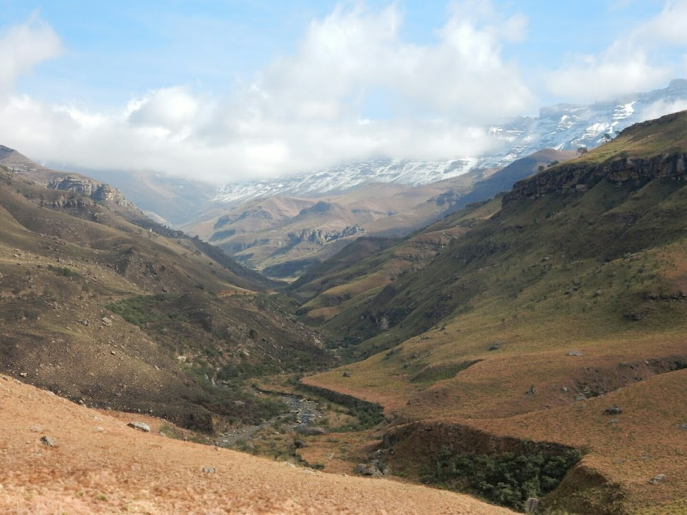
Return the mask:
M 155 424 L 140 433 L 124 424 L 135 416 L 104 415 L 10 378 L 0 377 L 0 409 L 0 514 L 510 513 L 450 492 L 179 442 L 156 435 Z M 41 444 L 43 435 L 56 446 Z

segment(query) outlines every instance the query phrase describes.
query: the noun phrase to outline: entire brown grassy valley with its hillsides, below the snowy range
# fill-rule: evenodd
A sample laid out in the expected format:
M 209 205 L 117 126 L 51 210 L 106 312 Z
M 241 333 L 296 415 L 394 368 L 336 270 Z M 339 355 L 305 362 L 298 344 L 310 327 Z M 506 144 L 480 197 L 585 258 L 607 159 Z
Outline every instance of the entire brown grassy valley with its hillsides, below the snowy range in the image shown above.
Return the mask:
M 685 141 L 542 150 L 440 212 L 443 181 L 258 199 L 209 242 L 5 148 L 0 512 L 681 513 Z

